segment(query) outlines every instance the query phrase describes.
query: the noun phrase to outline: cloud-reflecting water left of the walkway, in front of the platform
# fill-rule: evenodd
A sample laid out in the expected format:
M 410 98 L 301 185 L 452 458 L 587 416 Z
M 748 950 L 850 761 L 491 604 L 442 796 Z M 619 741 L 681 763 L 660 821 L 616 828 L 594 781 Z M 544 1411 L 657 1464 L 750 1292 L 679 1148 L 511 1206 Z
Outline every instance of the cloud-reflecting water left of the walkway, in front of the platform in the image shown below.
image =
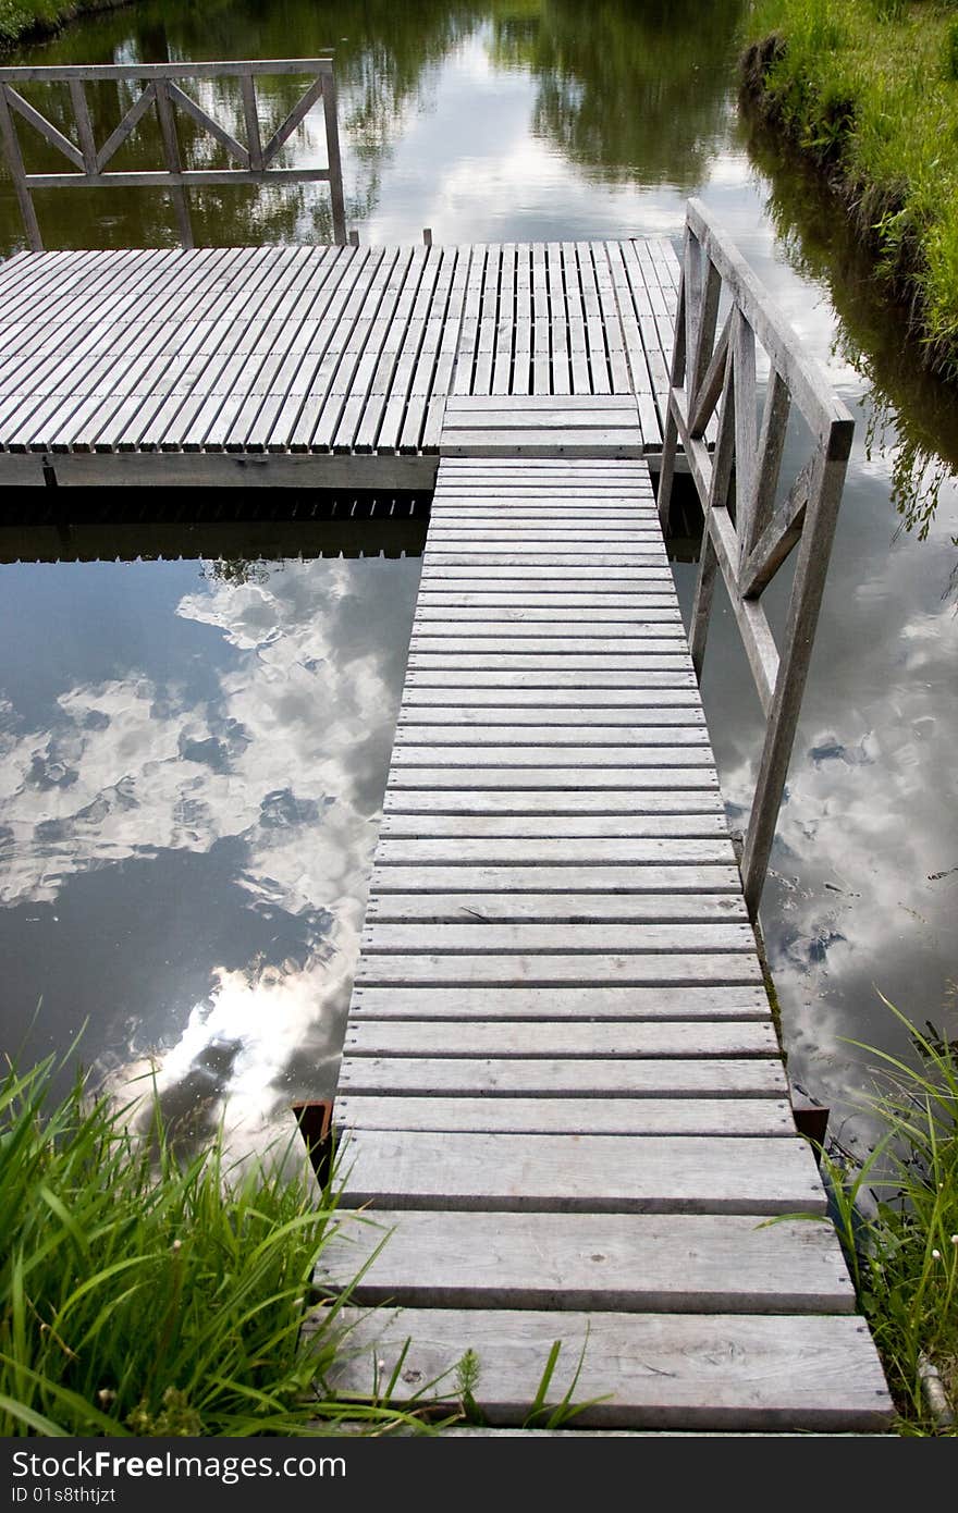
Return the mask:
M 6 1042 L 42 993 L 50 1044 L 89 1017 L 85 1058 L 114 1085 L 150 1064 L 168 1112 L 201 1126 L 229 1095 L 248 1144 L 334 1086 L 419 563 L 286 563 L 239 584 L 192 567 L 188 592 L 185 564 L 110 564 L 101 614 L 133 569 L 144 646 L 171 614 L 192 625 L 183 666 L 153 676 L 147 652 L 98 676 L 91 645 L 45 728 L 26 701 L 0 707 Z M 23 643 L 54 658 L 33 629 Z M 70 629 L 83 640 L 82 619 Z

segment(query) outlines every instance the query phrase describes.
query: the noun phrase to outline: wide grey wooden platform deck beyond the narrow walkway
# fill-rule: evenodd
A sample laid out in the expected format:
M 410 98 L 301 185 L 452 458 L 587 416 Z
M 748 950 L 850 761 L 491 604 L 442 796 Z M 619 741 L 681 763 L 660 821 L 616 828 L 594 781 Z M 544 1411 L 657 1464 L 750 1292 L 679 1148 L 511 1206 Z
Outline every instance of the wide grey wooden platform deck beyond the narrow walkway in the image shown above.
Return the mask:
M 677 284 L 657 239 L 23 253 L 0 481 L 428 487 L 449 395 L 627 398 L 655 454 Z

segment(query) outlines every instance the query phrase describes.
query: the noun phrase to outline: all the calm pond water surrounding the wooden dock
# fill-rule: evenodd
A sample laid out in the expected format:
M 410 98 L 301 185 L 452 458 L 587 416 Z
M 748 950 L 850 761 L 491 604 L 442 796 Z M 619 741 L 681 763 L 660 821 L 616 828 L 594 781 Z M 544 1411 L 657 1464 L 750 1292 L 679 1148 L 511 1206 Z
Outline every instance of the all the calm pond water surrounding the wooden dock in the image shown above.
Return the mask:
M 848 1041 L 910 1055 L 878 994 L 955 1027 L 958 410 L 916 368 L 841 213 L 740 118 L 740 11 L 144 5 L 17 61 L 334 47 L 363 241 L 427 225 L 436 241 L 678 241 L 690 194 L 726 225 L 857 419 L 763 902 L 790 1071 L 854 1144 L 870 1058 Z M 64 109 L 50 94 L 45 107 Z M 109 109 L 95 95 L 100 135 Z M 292 150 L 307 156 L 309 136 Z M 191 160 L 203 153 L 188 138 Z M 51 247 L 176 239 L 170 207 L 141 191 L 61 192 L 38 210 Z M 195 195 L 194 218 L 216 244 L 328 230 L 316 186 Z M 245 583 L 197 561 L 0 572 L 8 1041 L 42 991 L 35 1038 L 62 1044 L 88 1017 L 117 1076 L 153 1052 L 171 1108 L 215 1118 L 229 1094 L 236 1123 L 269 1127 L 334 1077 L 416 564 L 266 563 Z M 675 576 L 687 611 L 695 566 Z M 761 722 L 720 596 L 702 693 L 739 823 Z

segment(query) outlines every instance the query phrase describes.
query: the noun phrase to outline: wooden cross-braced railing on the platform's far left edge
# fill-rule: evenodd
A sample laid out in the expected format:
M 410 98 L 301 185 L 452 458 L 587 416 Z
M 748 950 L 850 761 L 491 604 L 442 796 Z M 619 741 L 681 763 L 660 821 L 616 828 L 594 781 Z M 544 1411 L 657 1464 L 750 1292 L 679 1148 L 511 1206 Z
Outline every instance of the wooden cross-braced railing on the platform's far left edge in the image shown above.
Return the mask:
M 260 133 L 256 100 L 256 77 L 260 74 L 312 74 L 312 83 L 280 127 L 266 142 Z M 97 145 L 86 100 L 86 85 L 94 80 L 132 80 L 142 85 L 139 95 L 120 124 Z M 245 123 L 245 144 L 219 126 L 177 80 L 238 79 Z M 51 121 L 24 100 L 17 85 L 42 82 L 67 83 L 76 126 L 74 145 Z M 325 117 L 327 168 L 272 168 L 277 153 L 295 132 L 309 110 L 322 100 Z M 145 171 L 109 171 L 107 163 L 136 130 L 147 112 L 156 110 L 165 166 Z M 177 138 L 177 110 L 207 132 L 236 163 L 235 168 L 183 168 Z M 15 117 L 32 126 L 45 141 L 73 163 L 73 172 L 32 174 L 26 171 Z M 20 203 L 30 250 L 44 250 L 36 210 L 35 189 L 130 188 L 156 185 L 168 189 L 176 207 L 180 242 L 192 247 L 192 224 L 186 189 L 203 185 L 263 183 L 265 180 L 327 182 L 330 186 L 333 241 L 345 242 L 347 224 L 342 197 L 342 168 L 336 126 L 336 83 L 331 57 L 283 57 L 216 64 L 100 64 L 64 68 L 0 68 L 0 135 L 6 148 L 14 189 Z

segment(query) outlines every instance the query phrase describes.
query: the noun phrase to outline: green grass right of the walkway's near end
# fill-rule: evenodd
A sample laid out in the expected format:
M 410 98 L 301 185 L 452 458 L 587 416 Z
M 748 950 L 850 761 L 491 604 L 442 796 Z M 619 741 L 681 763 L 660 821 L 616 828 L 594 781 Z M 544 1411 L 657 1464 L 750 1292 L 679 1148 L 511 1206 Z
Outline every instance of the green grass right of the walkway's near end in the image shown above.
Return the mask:
M 887 1008 L 919 1065 L 852 1042 L 878 1058 L 867 1111 L 882 1133 L 863 1165 L 825 1153 L 822 1168 L 899 1433 L 955 1436 L 955 1424 L 935 1421 L 922 1381 L 931 1365 L 958 1409 L 958 1045 Z

